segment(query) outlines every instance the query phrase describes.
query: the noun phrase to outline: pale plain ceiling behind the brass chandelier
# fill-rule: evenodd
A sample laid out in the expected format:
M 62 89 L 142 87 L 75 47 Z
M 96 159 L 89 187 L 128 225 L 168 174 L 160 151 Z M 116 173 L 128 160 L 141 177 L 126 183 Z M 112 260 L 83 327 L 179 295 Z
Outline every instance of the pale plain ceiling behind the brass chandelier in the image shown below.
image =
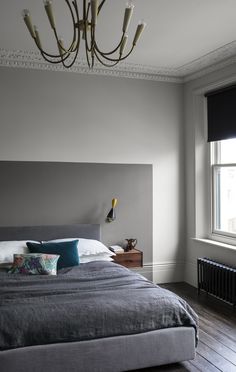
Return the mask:
M 105 3 L 97 26 L 101 49 L 113 48 L 118 41 L 126 2 L 107 0 Z M 54 13 L 59 34 L 69 41 L 72 27 L 64 3 L 54 0 Z M 82 6 L 81 0 L 78 3 Z M 139 19 L 144 19 L 147 27 L 134 52 L 118 70 L 182 79 L 209 66 L 217 68 L 218 64 L 235 61 L 236 0 L 133 0 L 133 3 L 130 40 Z M 36 63 L 37 48 L 21 17 L 25 8 L 30 10 L 33 23 L 39 27 L 45 48 L 55 50 L 42 1 L 1 0 L 1 65 L 14 60 L 20 67 L 24 59 Z M 83 60 L 83 53 L 81 56 Z M 36 58 L 38 66 L 40 58 Z

